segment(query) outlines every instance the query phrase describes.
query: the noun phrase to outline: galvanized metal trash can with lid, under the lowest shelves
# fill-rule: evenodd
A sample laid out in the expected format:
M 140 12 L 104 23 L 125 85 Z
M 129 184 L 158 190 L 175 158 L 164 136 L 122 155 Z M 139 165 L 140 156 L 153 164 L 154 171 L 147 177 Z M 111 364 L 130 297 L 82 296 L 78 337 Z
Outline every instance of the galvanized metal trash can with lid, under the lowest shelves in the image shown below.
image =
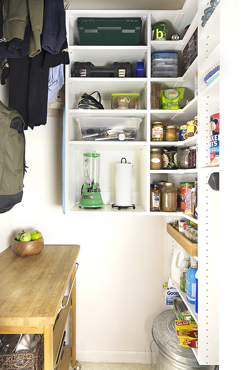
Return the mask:
M 191 348 L 182 347 L 177 338 L 173 311 L 160 313 L 153 322 L 156 370 L 215 370 L 217 366 L 199 365 Z

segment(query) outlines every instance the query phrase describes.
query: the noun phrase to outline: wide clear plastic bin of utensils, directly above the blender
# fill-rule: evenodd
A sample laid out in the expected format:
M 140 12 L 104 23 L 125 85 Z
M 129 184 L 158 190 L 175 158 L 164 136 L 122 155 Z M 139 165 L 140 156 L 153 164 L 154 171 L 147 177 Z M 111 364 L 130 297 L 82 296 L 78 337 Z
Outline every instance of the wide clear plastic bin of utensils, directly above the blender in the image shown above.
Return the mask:
M 78 117 L 83 141 L 135 141 L 142 122 L 136 117 Z

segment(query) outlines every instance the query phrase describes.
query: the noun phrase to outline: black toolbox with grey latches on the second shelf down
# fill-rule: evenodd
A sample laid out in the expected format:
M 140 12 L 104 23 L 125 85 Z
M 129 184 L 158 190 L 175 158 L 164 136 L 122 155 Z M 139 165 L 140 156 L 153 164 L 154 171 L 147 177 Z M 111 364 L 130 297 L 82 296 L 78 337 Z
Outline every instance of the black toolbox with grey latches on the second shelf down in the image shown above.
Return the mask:
M 114 62 L 109 67 L 95 67 L 91 62 L 75 62 L 71 71 L 72 77 L 133 77 L 134 71 L 130 62 Z

